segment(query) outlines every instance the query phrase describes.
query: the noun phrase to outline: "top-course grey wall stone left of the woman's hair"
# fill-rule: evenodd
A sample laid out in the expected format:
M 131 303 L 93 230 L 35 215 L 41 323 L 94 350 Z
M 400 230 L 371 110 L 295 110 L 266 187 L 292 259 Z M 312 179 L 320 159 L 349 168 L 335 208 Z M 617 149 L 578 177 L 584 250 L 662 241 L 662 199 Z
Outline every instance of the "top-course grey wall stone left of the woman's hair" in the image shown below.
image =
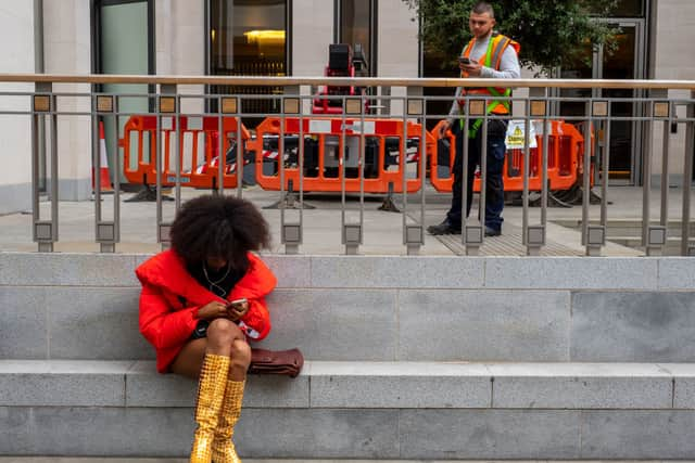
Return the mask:
M 0 285 L 140 286 L 128 254 L 0 253 Z

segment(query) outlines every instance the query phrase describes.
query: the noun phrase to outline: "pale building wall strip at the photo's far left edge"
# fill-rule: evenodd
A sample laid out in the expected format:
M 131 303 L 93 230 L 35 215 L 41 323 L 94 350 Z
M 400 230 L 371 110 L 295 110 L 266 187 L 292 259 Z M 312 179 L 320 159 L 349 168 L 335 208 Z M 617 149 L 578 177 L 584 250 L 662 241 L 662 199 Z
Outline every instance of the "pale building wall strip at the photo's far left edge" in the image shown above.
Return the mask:
M 0 66 L 3 73 L 34 73 L 34 2 L 0 0 Z M 12 37 L 8 40 L 7 37 Z M 0 91 L 34 91 L 33 85 L 0 83 Z M 2 107 L 26 111 L 30 100 L 0 97 Z M 28 116 L 0 116 L 0 214 L 30 207 L 31 126 Z

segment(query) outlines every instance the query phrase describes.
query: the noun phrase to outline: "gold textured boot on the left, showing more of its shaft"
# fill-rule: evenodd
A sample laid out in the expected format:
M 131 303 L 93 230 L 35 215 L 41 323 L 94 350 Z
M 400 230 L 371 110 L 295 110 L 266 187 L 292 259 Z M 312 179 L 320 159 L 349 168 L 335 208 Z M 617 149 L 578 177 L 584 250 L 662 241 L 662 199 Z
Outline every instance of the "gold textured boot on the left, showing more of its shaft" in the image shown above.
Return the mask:
M 225 398 L 229 357 L 206 353 L 198 381 L 198 403 L 195 422 L 198 428 L 193 435 L 191 463 L 210 463 L 212 458 L 215 428 L 219 421 L 219 411 Z

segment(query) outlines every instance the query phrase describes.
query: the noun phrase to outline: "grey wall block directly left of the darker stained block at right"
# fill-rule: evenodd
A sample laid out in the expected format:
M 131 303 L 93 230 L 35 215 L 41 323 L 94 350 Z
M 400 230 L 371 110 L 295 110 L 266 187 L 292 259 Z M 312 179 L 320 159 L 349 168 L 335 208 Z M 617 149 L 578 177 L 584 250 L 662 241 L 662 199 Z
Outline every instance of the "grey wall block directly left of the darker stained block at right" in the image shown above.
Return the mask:
M 399 360 L 567 361 L 569 293 L 400 291 Z

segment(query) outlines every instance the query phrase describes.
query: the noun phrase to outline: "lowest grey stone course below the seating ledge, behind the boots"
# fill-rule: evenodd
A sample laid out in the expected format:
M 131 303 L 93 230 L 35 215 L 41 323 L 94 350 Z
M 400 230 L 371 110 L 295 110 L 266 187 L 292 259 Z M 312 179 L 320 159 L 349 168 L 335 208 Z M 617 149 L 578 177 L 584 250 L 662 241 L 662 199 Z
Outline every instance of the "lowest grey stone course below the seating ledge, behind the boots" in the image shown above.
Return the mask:
M 184 408 L 0 407 L 0 422 L 11 455 L 182 458 L 193 433 Z M 244 461 L 664 461 L 693 460 L 694 425 L 692 410 L 244 408 L 235 441 Z

